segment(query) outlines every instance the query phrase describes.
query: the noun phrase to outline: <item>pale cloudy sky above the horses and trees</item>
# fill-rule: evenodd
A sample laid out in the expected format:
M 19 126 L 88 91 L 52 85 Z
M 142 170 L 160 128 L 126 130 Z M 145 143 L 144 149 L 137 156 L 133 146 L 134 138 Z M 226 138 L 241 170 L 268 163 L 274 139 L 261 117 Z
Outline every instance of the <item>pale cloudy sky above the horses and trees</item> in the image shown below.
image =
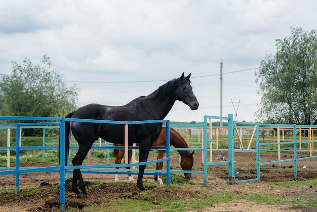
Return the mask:
M 254 73 L 290 27 L 317 28 L 316 8 L 312 0 L 2 1 L 0 73 L 47 54 L 80 88 L 80 106 L 123 105 L 191 73 L 200 108 L 176 102 L 166 119 L 201 122 L 220 115 L 222 59 L 223 116 L 256 121 Z

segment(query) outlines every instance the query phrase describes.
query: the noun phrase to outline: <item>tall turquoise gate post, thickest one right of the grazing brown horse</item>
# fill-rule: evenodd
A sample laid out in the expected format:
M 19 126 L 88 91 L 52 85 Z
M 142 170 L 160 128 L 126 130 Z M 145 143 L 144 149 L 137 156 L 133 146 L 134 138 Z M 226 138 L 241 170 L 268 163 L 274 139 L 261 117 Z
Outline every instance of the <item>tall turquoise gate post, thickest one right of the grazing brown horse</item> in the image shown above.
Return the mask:
M 234 175 L 235 175 L 235 170 L 234 170 L 234 138 L 233 138 L 233 115 L 228 114 L 228 160 L 229 160 L 229 165 L 228 165 L 228 180 L 230 184 L 234 184 Z

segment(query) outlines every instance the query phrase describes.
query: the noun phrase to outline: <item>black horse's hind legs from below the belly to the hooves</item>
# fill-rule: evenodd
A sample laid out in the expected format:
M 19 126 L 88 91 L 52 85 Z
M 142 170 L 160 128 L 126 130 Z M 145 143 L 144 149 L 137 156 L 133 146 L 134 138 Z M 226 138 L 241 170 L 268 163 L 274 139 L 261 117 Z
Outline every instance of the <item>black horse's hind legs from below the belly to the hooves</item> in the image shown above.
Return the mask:
M 89 151 L 89 147 L 87 146 L 79 146 L 78 152 L 76 153 L 75 157 L 72 159 L 72 164 L 74 166 L 82 165 L 83 161 Z M 80 192 L 77 188 L 77 181 L 78 181 L 78 187 L 81 189 L 82 192 Z M 75 192 L 77 197 L 83 197 L 85 198 L 87 196 L 84 179 L 82 176 L 82 172 L 80 169 L 74 169 L 73 171 L 73 180 L 71 185 L 71 190 Z

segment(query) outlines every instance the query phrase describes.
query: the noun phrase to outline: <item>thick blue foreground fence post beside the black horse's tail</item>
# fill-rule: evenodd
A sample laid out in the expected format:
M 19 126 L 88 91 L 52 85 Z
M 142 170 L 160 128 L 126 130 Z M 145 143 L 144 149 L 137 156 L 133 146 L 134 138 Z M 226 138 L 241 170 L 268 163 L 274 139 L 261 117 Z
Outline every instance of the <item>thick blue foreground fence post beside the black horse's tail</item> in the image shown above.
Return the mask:
M 65 159 L 68 157 L 65 155 L 65 119 L 62 117 L 60 120 L 60 141 L 59 141 L 59 165 L 60 165 L 60 172 L 59 172 L 59 210 L 65 210 Z

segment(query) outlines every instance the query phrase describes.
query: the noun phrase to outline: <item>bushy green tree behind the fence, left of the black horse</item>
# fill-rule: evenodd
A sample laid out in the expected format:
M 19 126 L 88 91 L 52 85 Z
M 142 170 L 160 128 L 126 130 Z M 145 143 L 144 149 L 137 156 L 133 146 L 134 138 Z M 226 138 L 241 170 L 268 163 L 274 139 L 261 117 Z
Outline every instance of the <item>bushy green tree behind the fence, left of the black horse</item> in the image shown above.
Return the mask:
M 13 62 L 12 74 L 0 75 L 0 115 L 65 116 L 76 109 L 76 86 L 67 87 L 63 76 L 44 55 L 41 63 Z

